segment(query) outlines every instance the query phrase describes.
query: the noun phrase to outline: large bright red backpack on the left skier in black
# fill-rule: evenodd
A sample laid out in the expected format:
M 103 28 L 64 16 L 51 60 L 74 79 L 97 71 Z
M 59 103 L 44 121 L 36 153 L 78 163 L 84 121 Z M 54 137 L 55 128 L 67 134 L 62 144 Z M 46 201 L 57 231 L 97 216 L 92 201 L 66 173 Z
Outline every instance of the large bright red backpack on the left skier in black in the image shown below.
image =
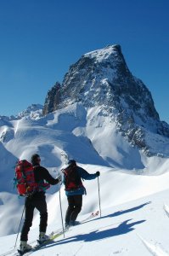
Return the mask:
M 34 168 L 27 160 L 19 160 L 14 168 L 14 183 L 21 196 L 32 195 L 35 192 L 44 191 L 49 188 L 48 183 L 36 183 Z

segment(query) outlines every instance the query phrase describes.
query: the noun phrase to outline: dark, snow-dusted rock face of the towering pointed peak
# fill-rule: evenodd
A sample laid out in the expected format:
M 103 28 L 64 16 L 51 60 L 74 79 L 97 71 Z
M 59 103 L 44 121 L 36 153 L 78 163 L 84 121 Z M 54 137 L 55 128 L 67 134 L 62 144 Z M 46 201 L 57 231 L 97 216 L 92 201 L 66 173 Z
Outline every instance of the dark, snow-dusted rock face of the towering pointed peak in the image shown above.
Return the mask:
M 132 76 L 120 45 L 109 45 L 82 55 L 70 66 L 63 84 L 48 91 L 43 114 L 82 102 L 85 108 L 100 106 L 115 121 L 117 131 L 129 143 L 152 154 L 146 144 L 146 133 L 169 137 L 169 125 L 161 122 L 151 93 Z

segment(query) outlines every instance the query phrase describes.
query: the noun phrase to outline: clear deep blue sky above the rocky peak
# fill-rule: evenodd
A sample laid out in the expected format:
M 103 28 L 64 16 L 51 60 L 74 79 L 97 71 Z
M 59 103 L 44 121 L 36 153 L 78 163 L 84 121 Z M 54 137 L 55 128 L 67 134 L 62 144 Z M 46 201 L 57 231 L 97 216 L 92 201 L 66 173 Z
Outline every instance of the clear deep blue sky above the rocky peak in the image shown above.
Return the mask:
M 169 123 L 168 0 L 0 0 L 0 115 L 44 103 L 83 54 L 121 44 Z

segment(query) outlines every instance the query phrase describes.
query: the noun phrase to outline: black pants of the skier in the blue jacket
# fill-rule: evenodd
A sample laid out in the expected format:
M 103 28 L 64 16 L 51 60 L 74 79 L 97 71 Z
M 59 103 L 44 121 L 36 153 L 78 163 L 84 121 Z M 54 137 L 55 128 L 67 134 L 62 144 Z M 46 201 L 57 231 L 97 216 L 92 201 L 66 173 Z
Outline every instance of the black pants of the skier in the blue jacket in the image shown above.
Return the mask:
M 75 221 L 79 212 L 82 209 L 82 195 L 68 195 L 68 208 L 65 213 L 65 223 L 69 224 L 70 221 Z

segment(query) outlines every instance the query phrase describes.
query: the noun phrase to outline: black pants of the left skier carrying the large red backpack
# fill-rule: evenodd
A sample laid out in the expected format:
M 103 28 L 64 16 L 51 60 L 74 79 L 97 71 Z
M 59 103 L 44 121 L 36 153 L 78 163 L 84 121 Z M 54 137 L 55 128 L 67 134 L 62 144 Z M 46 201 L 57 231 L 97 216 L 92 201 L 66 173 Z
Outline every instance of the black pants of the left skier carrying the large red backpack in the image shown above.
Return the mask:
M 28 232 L 32 225 L 35 208 L 37 208 L 40 213 L 39 231 L 46 233 L 48 222 L 46 196 L 43 192 L 37 192 L 31 197 L 25 198 L 25 222 L 21 230 L 20 241 L 28 240 Z

